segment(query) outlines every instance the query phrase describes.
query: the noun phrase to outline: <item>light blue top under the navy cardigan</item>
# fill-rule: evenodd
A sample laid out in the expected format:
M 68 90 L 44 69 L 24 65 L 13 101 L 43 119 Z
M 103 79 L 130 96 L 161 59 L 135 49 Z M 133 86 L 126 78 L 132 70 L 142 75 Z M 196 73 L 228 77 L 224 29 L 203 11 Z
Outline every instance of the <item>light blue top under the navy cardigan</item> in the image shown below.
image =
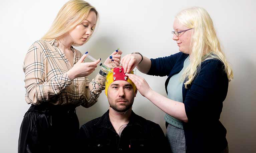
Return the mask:
M 183 97 L 182 97 L 183 81 L 181 81 L 181 76 L 182 76 L 183 72 L 187 69 L 189 64 L 190 64 L 190 61 L 189 61 L 189 56 L 188 56 L 187 59 L 184 61 L 183 69 L 178 74 L 175 74 L 170 78 L 168 85 L 167 85 L 169 99 L 172 99 L 174 101 L 183 102 Z M 174 118 L 168 114 L 165 114 L 165 120 L 169 124 L 183 129 L 183 124 L 182 124 L 181 120 Z

